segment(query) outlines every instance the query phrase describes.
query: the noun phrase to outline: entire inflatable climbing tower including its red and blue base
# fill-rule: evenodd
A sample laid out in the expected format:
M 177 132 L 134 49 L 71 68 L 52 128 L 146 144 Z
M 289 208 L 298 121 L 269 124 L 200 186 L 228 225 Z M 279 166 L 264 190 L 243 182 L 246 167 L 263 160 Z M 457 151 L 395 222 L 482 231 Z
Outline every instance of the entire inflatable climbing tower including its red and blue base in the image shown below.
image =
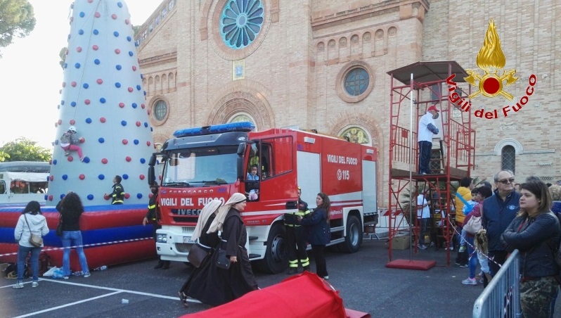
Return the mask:
M 152 226 L 142 225 L 150 194 L 147 161 L 154 148 L 124 1 L 76 0 L 67 47 L 47 206 L 41 208 L 50 229 L 43 250 L 62 266 L 62 243 L 55 234 L 59 214 L 53 205 L 74 191 L 84 203 L 80 230 L 91 269 L 155 257 Z M 79 151 L 66 153 L 60 137 L 71 126 Z M 117 174 L 126 193 L 123 205 L 111 205 L 103 196 L 111 193 Z M 15 261 L 13 229 L 24 206 L 0 206 L 0 262 Z M 70 267 L 80 270 L 72 251 Z

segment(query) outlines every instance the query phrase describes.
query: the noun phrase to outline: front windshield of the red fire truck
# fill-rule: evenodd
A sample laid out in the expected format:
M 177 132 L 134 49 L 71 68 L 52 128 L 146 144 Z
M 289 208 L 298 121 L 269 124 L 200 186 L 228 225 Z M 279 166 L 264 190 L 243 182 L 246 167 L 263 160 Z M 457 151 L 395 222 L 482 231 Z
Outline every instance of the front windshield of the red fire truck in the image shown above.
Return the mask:
M 167 154 L 162 186 L 212 186 L 236 182 L 238 146 L 177 149 Z

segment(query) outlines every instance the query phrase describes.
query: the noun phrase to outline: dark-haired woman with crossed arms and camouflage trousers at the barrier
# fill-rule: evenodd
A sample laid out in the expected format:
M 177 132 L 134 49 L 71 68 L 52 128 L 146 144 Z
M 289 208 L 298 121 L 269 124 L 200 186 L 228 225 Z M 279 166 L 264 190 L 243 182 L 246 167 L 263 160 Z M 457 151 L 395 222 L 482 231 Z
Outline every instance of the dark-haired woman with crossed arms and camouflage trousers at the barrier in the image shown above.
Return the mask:
M 557 217 L 550 212 L 546 184 L 532 180 L 521 185 L 520 212 L 501 235 L 505 250 L 520 251 L 520 305 L 524 317 L 550 317 L 557 296 L 559 267 L 554 251 L 561 241 Z

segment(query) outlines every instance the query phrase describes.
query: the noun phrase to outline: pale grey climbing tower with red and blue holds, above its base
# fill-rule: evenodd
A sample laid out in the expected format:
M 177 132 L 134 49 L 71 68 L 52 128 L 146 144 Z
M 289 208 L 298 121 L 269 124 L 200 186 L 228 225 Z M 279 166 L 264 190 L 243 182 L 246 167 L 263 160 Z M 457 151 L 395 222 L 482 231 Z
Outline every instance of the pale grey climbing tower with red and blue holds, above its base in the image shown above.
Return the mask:
M 124 205 L 146 205 L 154 148 L 129 9 L 115 0 L 77 0 L 71 9 L 46 205 L 68 191 L 84 206 L 110 204 L 104 193 L 117 174 L 127 193 Z M 82 158 L 61 148 L 71 126 Z

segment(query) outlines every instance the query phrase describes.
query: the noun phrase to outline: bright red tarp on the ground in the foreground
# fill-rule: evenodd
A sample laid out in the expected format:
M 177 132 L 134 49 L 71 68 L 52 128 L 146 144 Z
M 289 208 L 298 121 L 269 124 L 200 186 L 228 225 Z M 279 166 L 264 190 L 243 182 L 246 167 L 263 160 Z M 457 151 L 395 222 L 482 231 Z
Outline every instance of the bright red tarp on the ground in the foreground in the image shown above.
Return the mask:
M 303 272 L 280 284 L 252 291 L 230 303 L 183 317 L 370 317 L 369 314 L 345 312 L 339 293 L 316 274 Z

